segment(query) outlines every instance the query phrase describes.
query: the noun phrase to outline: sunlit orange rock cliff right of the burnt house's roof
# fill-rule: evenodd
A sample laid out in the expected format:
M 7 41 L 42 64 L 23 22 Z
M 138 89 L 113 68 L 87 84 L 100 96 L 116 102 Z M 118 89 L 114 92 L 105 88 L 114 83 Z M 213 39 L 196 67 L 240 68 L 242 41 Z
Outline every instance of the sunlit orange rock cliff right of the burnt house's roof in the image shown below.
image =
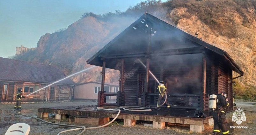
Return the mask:
M 186 16 L 190 17 L 182 17 Z M 210 29 L 206 24 L 201 22 L 197 16 L 187 12 L 186 8 L 175 8 L 169 13 L 169 17 L 174 19 L 180 17 L 177 27 L 194 35 L 198 32 L 198 37 L 203 41 L 208 42 L 218 48 L 228 52 L 238 66 L 243 70 L 245 75 L 238 78 L 240 82 L 248 83 L 251 85 L 256 84 L 256 21 L 248 17 L 250 21 L 250 28 L 242 25 L 243 17 L 238 13 L 223 12 L 225 16 L 233 16 L 234 24 L 238 30 L 238 37 L 229 38 L 221 35 L 216 31 Z M 248 11 L 247 14 L 252 14 Z M 171 23 L 171 22 L 170 22 Z M 238 74 L 234 73 L 234 77 Z

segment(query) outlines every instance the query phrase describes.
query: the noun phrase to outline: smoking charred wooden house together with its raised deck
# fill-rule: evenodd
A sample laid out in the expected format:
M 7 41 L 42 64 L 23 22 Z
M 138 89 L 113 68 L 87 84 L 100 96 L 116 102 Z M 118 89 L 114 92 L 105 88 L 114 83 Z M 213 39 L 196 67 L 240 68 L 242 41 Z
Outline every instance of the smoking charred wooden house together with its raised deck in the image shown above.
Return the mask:
M 192 132 L 202 132 L 204 125 L 213 123 L 209 112 L 209 95 L 227 93 L 230 106 L 225 112 L 232 115 L 232 82 L 244 75 L 224 50 L 148 13 L 106 44 L 87 63 L 102 67 L 100 87 L 90 88 L 95 88 L 95 94 L 98 91 L 98 106 L 39 108 L 39 117 L 48 116 L 54 111 L 59 116 L 76 115 L 74 118 L 83 121 L 96 118 L 99 124 L 110 118 L 118 118 L 123 119 L 125 126 L 135 125 L 140 120 L 152 122 L 153 128 L 162 129 L 166 124 L 178 124 L 190 126 Z M 117 93 L 105 90 L 106 68 L 120 71 L 120 90 Z M 239 75 L 234 77 L 233 72 Z M 167 99 L 172 105 L 170 109 L 162 106 L 158 110 L 155 107 L 159 94 L 156 87 L 160 80 L 167 87 Z M 116 103 L 106 102 L 108 96 L 116 97 Z M 143 106 L 152 110 L 132 112 L 121 109 L 117 116 L 114 111 L 97 110 L 99 106 Z M 203 116 L 198 115 L 202 114 L 201 111 Z

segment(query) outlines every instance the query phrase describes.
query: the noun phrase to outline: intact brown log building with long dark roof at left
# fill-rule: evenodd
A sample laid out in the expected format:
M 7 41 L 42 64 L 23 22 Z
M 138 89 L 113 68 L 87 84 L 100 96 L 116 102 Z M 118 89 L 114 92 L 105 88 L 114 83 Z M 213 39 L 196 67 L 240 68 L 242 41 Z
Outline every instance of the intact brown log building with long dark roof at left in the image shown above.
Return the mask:
M 66 77 L 52 65 L 1 57 L 0 65 L 0 102 L 15 101 L 18 88 L 23 88 L 23 95 L 28 95 Z M 68 78 L 33 93 L 22 101 L 70 101 L 74 86 L 75 83 Z

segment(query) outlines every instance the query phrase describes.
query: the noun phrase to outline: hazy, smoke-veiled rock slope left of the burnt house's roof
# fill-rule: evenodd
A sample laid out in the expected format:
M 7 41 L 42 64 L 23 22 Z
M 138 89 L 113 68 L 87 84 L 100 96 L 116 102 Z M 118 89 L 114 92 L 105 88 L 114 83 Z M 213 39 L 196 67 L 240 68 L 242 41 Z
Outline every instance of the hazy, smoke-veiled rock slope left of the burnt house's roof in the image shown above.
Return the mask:
M 49 63 L 52 61 L 64 71 L 72 74 L 91 67 L 86 63 L 92 55 L 127 28 L 135 18 L 96 19 L 87 16 L 69 25 L 68 29 L 43 35 L 37 43 L 36 53 L 29 61 Z M 101 81 L 101 68 L 96 67 L 73 78 L 74 82 Z M 106 82 L 118 82 L 119 71 L 107 69 Z

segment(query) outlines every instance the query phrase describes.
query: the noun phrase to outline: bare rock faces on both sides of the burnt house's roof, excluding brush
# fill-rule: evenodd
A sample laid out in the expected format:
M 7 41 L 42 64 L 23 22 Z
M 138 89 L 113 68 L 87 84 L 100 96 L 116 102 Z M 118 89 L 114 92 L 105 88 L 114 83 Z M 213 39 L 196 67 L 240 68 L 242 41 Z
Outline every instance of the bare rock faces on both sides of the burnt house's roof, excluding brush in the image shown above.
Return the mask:
M 222 17 L 232 16 L 233 18 L 232 25 L 239 33 L 235 38 L 223 35 L 218 32 L 217 28 L 210 28 L 195 14 L 188 12 L 187 8 L 159 9 L 161 13 L 156 11 L 149 13 L 154 16 L 157 15 L 159 19 L 175 25 L 191 35 L 198 32 L 199 38 L 202 37 L 203 41 L 228 52 L 242 68 L 245 75 L 238 78 L 240 82 L 256 84 L 256 22 L 250 17 L 252 14 L 255 16 L 254 9 L 244 9 L 246 11 L 244 15 L 247 16 L 249 22 L 246 27 L 242 25 L 244 17 L 237 12 L 228 8 L 223 12 Z M 132 24 L 138 16 L 140 15 L 136 14 L 136 17 L 109 17 L 107 19 L 93 16 L 84 17 L 69 25 L 65 30 L 43 35 L 37 43 L 36 52 L 28 57 L 28 61 L 40 63 L 52 61 L 53 65 L 60 67 L 65 74 L 81 71 L 91 66 L 85 62 L 88 58 Z M 177 18 L 179 19 L 177 20 Z M 90 72 L 79 74 L 73 80 L 77 83 L 100 81 L 100 72 L 100 67 L 93 68 Z M 238 74 L 234 73 L 234 77 L 236 76 Z M 118 82 L 118 80 L 119 71 L 106 70 L 106 82 Z

